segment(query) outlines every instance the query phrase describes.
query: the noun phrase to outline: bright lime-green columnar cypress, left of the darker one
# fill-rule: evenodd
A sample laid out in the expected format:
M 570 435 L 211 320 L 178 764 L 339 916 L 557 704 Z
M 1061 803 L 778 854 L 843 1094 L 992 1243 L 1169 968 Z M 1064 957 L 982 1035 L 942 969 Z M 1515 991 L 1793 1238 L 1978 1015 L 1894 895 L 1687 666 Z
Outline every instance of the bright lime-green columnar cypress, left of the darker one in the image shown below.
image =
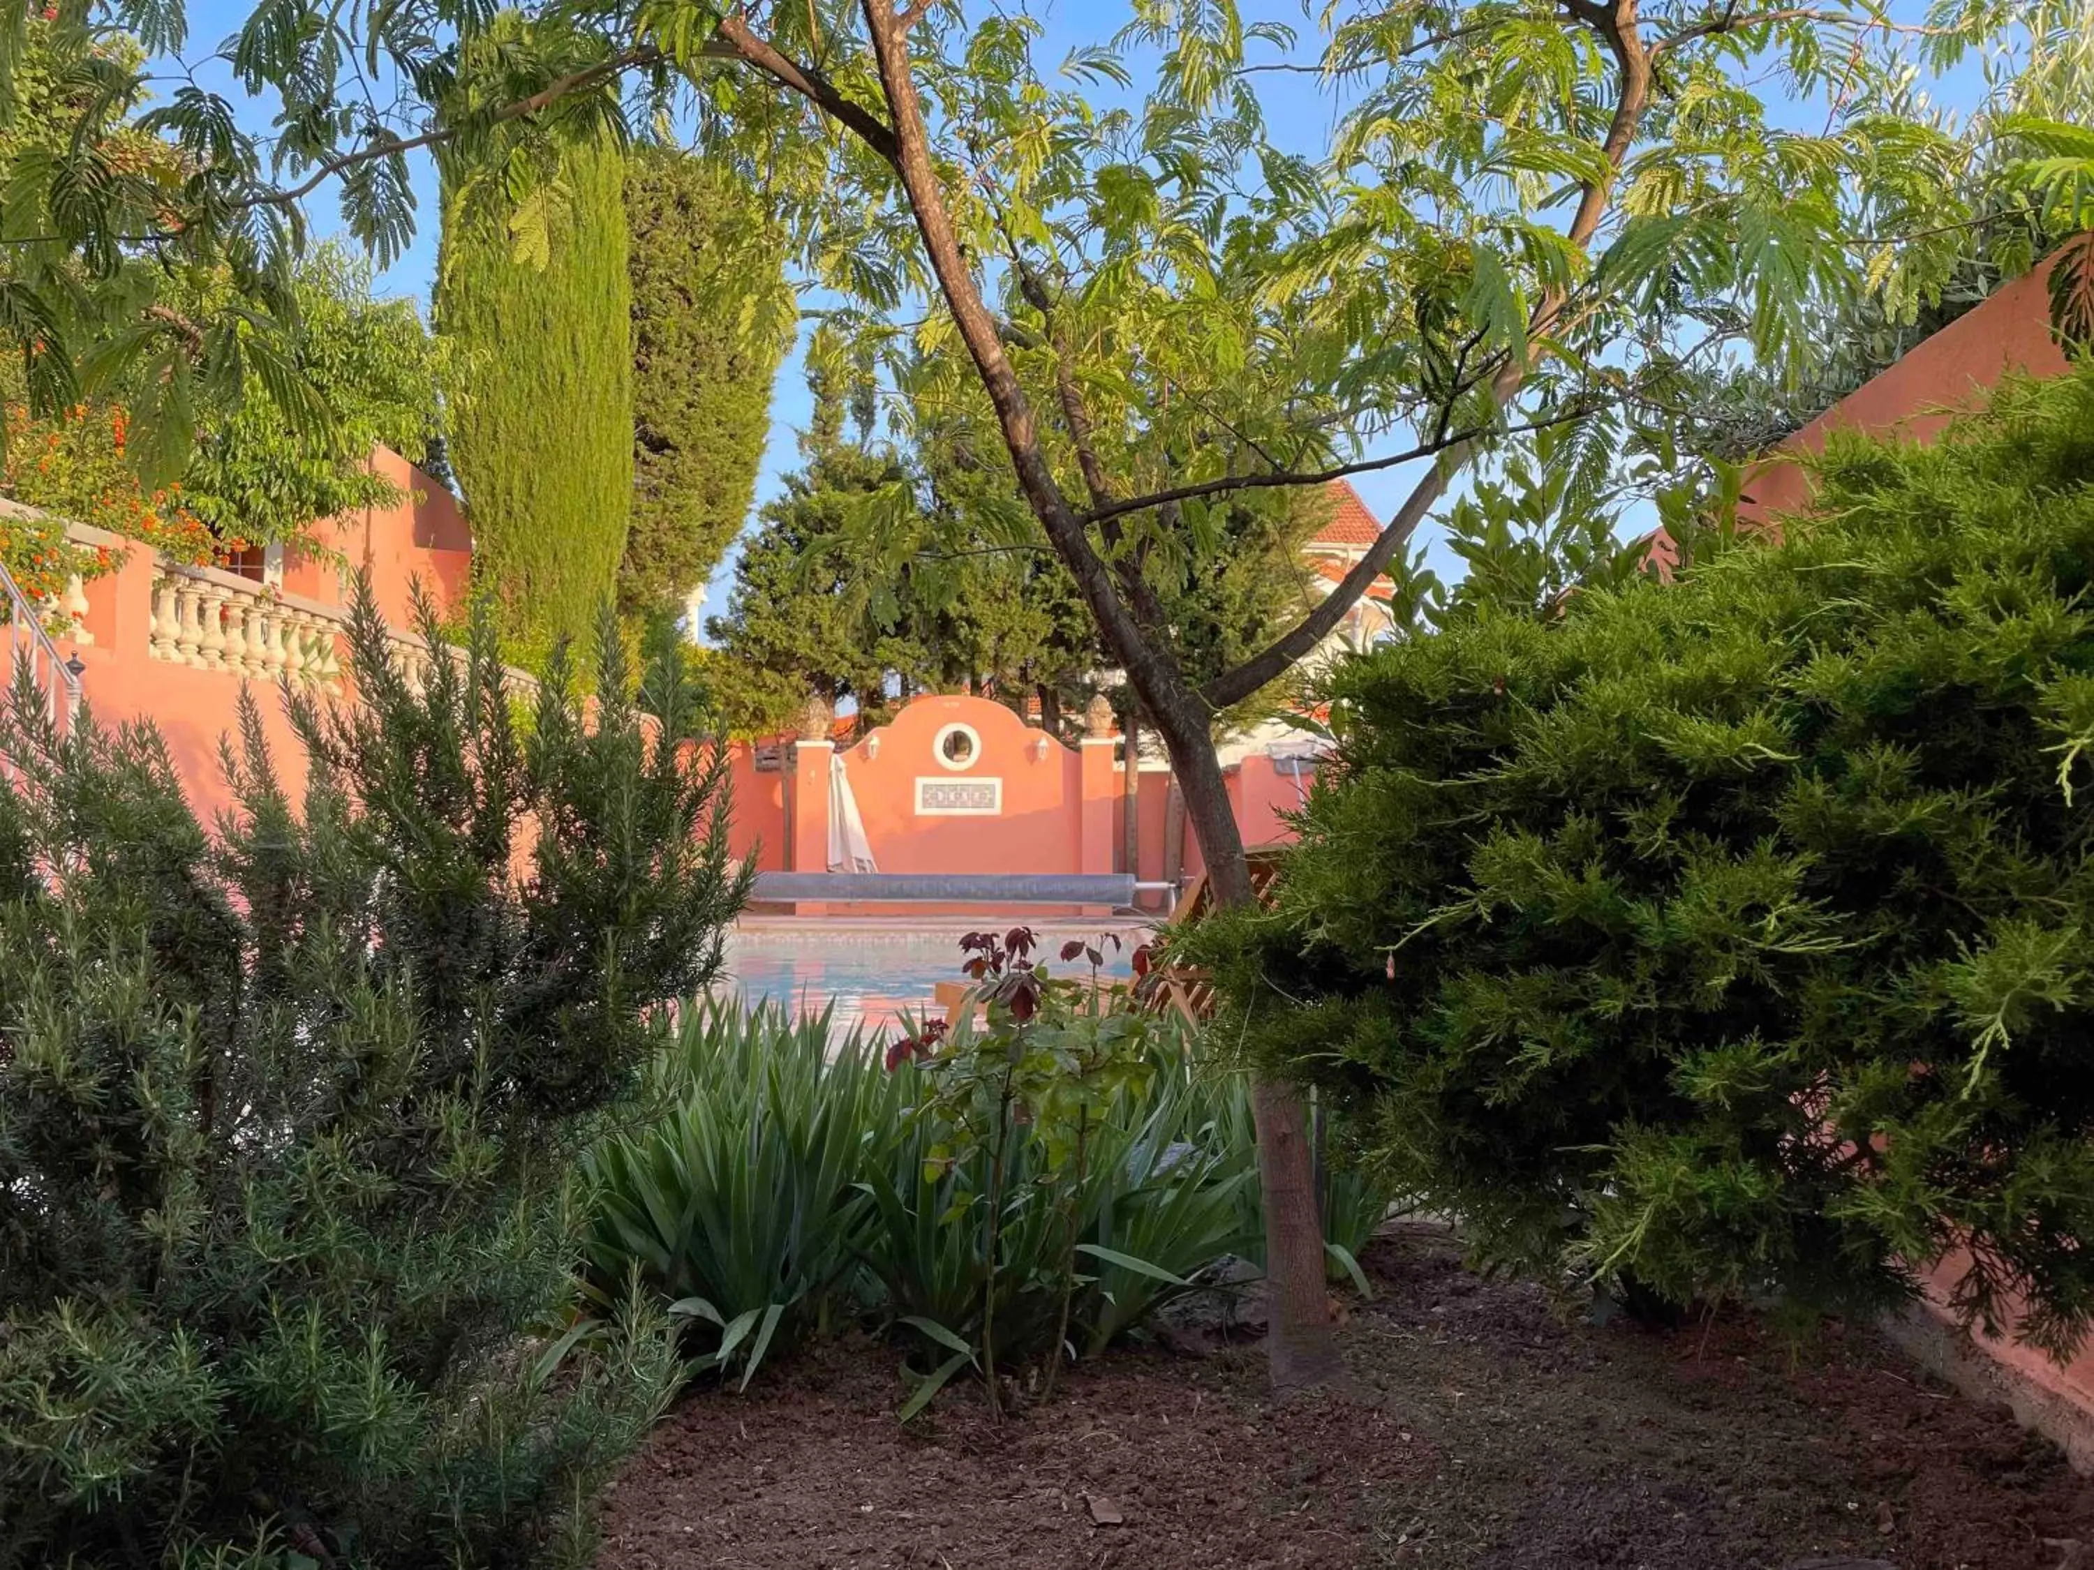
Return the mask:
M 519 257 L 511 214 L 450 172 L 438 324 L 459 352 L 450 461 L 473 525 L 475 586 L 505 638 L 586 634 L 618 580 L 632 511 L 632 356 L 624 153 L 570 149 L 547 249 Z M 542 266 L 538 266 L 542 262 Z

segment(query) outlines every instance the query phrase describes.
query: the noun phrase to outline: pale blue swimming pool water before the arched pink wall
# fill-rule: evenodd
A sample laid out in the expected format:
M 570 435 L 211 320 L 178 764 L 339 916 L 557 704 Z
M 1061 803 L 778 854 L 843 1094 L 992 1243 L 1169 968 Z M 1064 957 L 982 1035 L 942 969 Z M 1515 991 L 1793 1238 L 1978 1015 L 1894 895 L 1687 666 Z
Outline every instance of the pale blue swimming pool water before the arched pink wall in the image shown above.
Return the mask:
M 1018 925 L 1009 921 L 978 925 Z M 819 1013 L 836 999 L 833 1030 L 886 1034 L 903 1013 L 930 1011 L 938 982 L 963 982 L 959 938 L 970 927 L 886 925 L 762 925 L 737 927 L 727 940 L 727 975 L 716 990 L 739 992 L 750 1003 L 771 1001 L 794 1013 Z M 1062 965 L 1062 944 L 1081 938 L 1099 944 L 1099 925 L 1039 923 L 1039 955 L 1055 975 L 1089 975 L 1089 965 Z M 1133 975 L 1131 952 L 1145 934 L 1120 927 L 1120 948 L 1099 944 L 1101 975 Z

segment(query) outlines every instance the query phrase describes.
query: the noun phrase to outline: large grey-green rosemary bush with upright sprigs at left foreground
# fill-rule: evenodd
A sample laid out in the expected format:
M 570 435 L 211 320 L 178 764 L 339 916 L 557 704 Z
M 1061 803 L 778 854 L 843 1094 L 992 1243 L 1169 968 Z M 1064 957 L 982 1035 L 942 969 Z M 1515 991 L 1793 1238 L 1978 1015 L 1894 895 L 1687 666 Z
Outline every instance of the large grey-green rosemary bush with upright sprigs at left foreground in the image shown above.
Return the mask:
M 0 718 L 6 1570 L 584 1566 L 674 1388 L 653 1308 L 544 1336 L 567 1172 L 745 892 L 722 777 L 609 620 L 528 731 L 486 615 L 427 691 L 369 588 L 352 645 L 299 806 L 243 697 L 216 837 L 149 728 Z M 697 718 L 672 647 L 643 693 Z

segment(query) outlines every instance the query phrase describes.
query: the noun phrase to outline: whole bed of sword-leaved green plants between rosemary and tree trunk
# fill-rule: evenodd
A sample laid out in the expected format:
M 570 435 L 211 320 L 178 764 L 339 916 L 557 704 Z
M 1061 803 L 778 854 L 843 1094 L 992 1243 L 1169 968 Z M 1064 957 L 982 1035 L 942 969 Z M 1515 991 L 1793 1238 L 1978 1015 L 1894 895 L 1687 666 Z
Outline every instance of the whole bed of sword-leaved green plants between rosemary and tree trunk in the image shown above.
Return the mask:
M 1152 1051 L 1148 1017 L 1022 975 L 1024 1028 L 997 1003 L 886 1063 L 829 1013 L 697 1003 L 655 1070 L 670 1109 L 588 1158 L 593 1298 L 637 1279 L 741 1384 L 865 1319 L 932 1352 L 928 1400 L 970 1367 L 1095 1356 L 1244 1252 L 1256 1156 L 1206 1116 L 1198 1066 Z

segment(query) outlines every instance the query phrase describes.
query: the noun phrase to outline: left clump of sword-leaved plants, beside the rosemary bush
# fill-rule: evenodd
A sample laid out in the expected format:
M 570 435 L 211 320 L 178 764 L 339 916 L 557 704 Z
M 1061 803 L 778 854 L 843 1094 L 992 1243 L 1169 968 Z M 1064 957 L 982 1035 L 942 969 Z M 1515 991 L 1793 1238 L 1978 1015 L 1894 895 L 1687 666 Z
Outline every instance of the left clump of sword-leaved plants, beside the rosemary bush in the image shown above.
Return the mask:
M 628 1275 L 693 1321 L 699 1367 L 741 1365 L 836 1321 L 871 1231 L 867 1170 L 898 1139 L 903 1084 L 831 1011 L 699 1001 L 662 1066 L 660 1122 L 588 1158 L 591 1285 Z

